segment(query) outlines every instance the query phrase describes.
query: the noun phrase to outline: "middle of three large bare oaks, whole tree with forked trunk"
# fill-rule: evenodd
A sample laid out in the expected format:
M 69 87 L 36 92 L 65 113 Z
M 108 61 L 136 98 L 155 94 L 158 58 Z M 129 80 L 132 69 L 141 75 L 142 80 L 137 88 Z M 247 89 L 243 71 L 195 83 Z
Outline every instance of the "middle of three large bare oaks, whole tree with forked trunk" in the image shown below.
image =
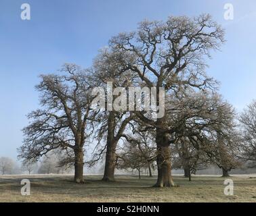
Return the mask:
M 95 58 L 93 63 L 94 79 L 98 86 L 103 86 L 107 92 L 107 82 L 112 82 L 112 88 L 126 87 L 133 82 L 133 73 L 125 72 L 120 65 L 120 59 L 127 56 L 122 56 L 120 53 L 112 53 L 108 49 L 102 49 L 101 53 Z M 112 96 L 112 90 L 110 92 L 111 97 L 115 99 L 117 96 Z M 106 93 L 106 97 L 107 97 Z M 98 113 L 95 117 L 95 121 L 98 121 L 98 131 L 96 132 L 96 138 L 99 145 L 98 153 L 94 155 L 94 161 L 98 161 L 105 152 L 105 169 L 104 177 L 102 180 L 109 182 L 114 181 L 114 169 L 116 167 L 116 146 L 121 138 L 127 138 L 125 135 L 125 129 L 127 125 L 133 119 L 133 113 L 122 110 L 107 110 L 107 107 L 112 104 L 106 102 L 106 111 Z M 102 140 L 106 143 L 100 145 Z

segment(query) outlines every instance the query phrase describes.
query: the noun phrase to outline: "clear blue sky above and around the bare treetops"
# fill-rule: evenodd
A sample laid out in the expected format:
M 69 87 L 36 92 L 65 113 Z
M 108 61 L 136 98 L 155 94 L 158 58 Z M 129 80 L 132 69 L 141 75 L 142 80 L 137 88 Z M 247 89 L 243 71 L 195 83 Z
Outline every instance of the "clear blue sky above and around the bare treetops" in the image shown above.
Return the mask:
M 29 3 L 32 20 L 21 20 Z M 233 3 L 234 20 L 223 5 Z M 16 159 L 26 114 L 39 107 L 34 86 L 41 73 L 65 62 L 91 65 L 110 36 L 135 30 L 137 22 L 167 16 L 209 13 L 226 28 L 226 45 L 213 53 L 208 72 L 221 93 L 241 110 L 256 99 L 255 0 L 1 0 L 0 1 L 0 156 Z

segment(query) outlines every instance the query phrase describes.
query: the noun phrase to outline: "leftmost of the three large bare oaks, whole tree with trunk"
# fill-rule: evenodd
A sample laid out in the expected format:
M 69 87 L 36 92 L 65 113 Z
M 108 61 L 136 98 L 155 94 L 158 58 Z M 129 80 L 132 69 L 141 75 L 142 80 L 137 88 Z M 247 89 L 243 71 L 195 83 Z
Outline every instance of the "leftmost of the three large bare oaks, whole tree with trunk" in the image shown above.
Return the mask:
M 41 92 L 42 109 L 28 115 L 24 128 L 24 144 L 18 148 L 19 157 L 39 159 L 54 149 L 70 148 L 74 153 L 74 182 L 83 183 L 83 151 L 85 140 L 92 132 L 90 118 L 91 88 L 89 74 L 74 64 L 65 64 L 64 75 L 41 75 L 37 90 Z

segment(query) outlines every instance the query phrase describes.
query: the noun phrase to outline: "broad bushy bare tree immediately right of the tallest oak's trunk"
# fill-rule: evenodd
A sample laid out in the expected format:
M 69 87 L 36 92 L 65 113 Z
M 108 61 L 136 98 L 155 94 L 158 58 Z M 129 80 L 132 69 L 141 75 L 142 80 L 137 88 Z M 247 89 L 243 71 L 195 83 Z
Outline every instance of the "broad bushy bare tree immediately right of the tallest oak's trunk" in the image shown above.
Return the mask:
M 196 165 L 215 163 L 227 172 L 239 165 L 234 109 L 219 94 L 187 89 L 171 104 L 167 119 L 175 130 L 176 167 L 191 178 Z

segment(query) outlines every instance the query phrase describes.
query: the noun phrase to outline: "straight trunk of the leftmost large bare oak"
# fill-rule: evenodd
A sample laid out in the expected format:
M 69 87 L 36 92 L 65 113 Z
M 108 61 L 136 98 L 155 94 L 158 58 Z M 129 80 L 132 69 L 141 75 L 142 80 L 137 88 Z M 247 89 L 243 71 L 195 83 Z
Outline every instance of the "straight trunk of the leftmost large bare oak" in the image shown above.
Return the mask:
M 74 151 L 74 182 L 83 184 L 83 148 Z

